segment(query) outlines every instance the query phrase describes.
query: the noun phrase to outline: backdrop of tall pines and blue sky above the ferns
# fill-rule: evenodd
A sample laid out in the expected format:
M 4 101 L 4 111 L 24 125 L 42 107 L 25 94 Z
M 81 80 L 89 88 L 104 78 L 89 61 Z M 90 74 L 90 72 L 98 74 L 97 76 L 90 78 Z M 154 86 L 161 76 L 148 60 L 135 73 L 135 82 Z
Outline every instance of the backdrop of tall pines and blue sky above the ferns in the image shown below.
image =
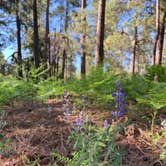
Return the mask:
M 100 66 L 141 74 L 166 64 L 165 26 L 165 0 L 0 0 L 0 72 L 66 79 Z M 2 55 L 9 46 L 10 63 Z

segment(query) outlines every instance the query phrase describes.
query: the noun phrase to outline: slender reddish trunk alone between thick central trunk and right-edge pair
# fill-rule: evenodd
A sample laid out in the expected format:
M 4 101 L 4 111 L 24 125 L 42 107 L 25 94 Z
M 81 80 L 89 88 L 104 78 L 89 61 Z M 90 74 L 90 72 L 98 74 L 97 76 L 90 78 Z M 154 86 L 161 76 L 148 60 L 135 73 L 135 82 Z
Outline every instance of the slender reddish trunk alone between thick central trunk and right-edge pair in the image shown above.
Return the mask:
M 130 73 L 131 74 L 135 73 L 136 47 L 137 47 L 137 27 L 134 28 L 132 54 L 131 54 L 131 61 L 130 61 Z

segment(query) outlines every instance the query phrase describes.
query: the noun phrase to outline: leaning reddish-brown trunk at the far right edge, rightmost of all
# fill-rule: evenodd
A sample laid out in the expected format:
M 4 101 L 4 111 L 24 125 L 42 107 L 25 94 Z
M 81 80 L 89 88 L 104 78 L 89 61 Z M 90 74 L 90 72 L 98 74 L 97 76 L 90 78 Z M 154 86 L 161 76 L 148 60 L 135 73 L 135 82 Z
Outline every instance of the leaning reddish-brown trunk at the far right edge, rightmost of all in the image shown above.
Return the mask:
M 163 20 L 161 22 L 159 40 L 157 44 L 156 51 L 156 65 L 162 64 L 162 53 L 163 53 L 163 45 L 164 45 L 164 33 L 165 33 L 165 25 L 166 24 L 166 12 L 164 13 Z

